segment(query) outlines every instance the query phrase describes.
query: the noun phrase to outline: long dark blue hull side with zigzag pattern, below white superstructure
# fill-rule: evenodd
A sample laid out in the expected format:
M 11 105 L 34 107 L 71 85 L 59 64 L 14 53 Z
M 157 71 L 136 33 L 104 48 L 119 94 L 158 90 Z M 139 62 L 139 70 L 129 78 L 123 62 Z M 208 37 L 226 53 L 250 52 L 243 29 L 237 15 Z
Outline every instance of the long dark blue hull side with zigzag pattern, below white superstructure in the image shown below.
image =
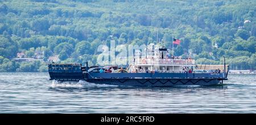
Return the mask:
M 122 86 L 216 85 L 227 80 L 225 73 L 85 73 L 96 84 Z

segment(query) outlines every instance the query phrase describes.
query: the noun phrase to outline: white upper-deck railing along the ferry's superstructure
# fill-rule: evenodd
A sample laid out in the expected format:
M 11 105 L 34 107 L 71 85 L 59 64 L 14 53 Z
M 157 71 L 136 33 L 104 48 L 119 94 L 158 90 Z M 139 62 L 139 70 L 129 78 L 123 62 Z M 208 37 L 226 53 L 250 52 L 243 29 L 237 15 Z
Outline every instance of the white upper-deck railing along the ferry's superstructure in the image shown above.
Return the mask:
M 177 65 L 195 65 L 194 59 L 149 59 L 149 58 L 134 58 L 133 64 L 177 64 Z

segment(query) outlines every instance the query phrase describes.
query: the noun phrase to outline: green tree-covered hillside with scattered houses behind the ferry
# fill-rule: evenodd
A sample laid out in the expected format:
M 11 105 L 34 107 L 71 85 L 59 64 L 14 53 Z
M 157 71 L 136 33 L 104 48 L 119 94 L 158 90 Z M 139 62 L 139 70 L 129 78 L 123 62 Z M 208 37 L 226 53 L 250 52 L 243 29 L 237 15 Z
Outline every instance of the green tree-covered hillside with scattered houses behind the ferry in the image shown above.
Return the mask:
M 96 64 L 97 47 L 110 43 L 147 44 L 181 40 L 175 56 L 191 54 L 197 63 L 256 69 L 256 1 L 221 0 L 0 0 L 0 71 L 37 72 L 43 61 Z M 169 47 L 169 48 L 170 48 Z

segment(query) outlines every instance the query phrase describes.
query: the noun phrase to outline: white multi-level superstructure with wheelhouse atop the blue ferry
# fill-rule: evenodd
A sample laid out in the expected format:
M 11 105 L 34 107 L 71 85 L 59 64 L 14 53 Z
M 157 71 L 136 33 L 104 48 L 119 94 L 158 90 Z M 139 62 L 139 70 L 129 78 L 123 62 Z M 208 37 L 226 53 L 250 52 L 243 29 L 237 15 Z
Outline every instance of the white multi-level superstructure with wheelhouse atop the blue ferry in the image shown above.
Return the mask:
M 131 62 L 128 68 L 130 72 L 188 72 L 195 67 L 194 59 L 170 56 L 166 47 L 153 43 L 147 46 L 146 55 L 135 51 Z

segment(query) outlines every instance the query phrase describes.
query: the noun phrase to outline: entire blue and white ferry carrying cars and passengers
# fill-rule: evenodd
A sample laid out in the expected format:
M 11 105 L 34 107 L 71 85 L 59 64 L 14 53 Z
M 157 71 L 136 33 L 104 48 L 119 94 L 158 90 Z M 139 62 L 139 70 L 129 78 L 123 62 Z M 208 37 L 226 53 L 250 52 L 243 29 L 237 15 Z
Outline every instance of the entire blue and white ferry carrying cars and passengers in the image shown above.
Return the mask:
M 89 68 L 87 62 L 86 66 L 48 64 L 50 80 L 84 80 L 95 84 L 121 86 L 208 86 L 223 84 L 224 80 L 228 80 L 229 66 L 225 65 L 225 61 L 224 65 L 202 66 L 196 65 L 195 60 L 190 57 L 179 59 L 169 56 L 168 49 L 159 44 L 151 43 L 146 49 L 146 56 L 142 57 L 140 53 L 135 53 L 127 68 L 112 72 L 109 72 L 111 66 L 108 66 L 108 69 Z

